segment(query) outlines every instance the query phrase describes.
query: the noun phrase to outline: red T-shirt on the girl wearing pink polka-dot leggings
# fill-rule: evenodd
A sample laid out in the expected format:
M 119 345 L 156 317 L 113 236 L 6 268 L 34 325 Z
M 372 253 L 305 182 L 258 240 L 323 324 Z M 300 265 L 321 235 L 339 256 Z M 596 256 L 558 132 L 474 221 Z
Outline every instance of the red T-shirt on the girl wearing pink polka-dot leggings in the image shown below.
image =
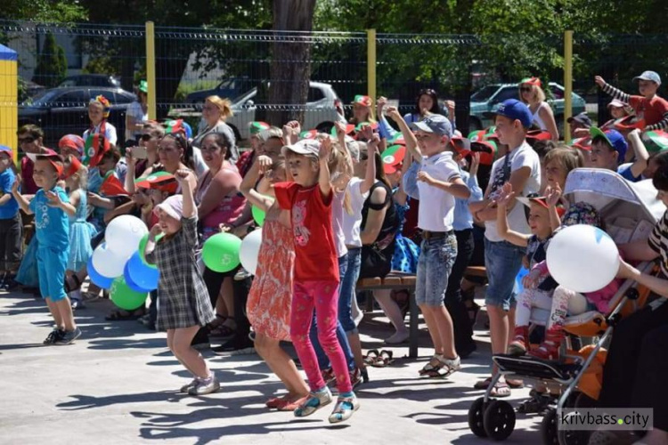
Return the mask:
M 337 248 L 331 225 L 334 193 L 322 196 L 320 187 L 296 182 L 273 186 L 279 206 L 290 211 L 295 237 L 295 280 L 338 281 Z

